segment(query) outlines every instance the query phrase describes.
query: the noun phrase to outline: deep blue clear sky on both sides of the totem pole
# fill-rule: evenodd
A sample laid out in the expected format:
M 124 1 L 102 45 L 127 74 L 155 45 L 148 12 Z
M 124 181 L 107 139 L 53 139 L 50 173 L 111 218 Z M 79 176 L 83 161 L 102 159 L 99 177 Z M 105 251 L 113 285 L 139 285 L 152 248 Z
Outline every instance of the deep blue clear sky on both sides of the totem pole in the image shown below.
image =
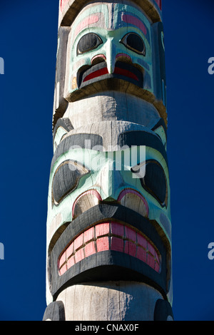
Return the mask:
M 41 320 L 58 0 L 2 2 L 0 320 Z M 163 0 L 177 320 L 214 320 L 213 10 L 211 0 Z

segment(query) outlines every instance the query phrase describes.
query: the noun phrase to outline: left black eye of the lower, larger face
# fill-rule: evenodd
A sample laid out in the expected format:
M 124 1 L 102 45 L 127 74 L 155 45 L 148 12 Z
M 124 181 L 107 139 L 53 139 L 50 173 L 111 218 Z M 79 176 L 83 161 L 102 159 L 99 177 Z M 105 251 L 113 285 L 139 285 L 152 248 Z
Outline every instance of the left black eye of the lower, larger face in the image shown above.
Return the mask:
M 76 185 L 82 175 L 89 171 L 83 165 L 68 160 L 62 163 L 55 172 L 52 182 L 52 192 L 55 202 L 61 202 Z

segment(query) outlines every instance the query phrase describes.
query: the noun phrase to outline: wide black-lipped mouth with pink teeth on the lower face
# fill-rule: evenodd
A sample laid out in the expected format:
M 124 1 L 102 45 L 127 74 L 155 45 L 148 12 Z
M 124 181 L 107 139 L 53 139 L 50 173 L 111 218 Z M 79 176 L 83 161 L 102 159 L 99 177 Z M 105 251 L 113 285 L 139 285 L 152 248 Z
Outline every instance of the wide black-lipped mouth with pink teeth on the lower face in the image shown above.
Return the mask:
M 78 215 L 49 250 L 55 298 L 68 285 L 121 279 L 146 282 L 165 294 L 166 272 L 168 251 L 156 227 L 120 204 L 101 202 Z

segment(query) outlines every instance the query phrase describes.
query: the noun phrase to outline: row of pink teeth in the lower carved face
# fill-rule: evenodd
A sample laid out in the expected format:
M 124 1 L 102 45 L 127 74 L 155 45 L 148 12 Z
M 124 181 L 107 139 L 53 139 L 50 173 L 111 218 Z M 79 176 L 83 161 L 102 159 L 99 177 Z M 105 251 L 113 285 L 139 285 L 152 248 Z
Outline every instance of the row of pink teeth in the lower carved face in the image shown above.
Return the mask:
M 156 272 L 161 270 L 159 252 L 142 234 L 118 222 L 103 222 L 81 233 L 58 258 L 58 273 L 64 274 L 82 259 L 105 250 L 115 250 L 141 259 Z

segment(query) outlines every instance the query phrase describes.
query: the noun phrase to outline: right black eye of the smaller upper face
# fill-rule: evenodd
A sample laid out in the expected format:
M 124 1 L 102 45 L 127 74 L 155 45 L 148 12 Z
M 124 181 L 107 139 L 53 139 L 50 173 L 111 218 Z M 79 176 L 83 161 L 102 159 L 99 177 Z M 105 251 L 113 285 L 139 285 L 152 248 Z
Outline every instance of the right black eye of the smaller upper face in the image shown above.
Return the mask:
M 146 56 L 146 46 L 141 36 L 137 33 L 126 33 L 120 41 L 126 48 L 129 48 L 140 55 Z

